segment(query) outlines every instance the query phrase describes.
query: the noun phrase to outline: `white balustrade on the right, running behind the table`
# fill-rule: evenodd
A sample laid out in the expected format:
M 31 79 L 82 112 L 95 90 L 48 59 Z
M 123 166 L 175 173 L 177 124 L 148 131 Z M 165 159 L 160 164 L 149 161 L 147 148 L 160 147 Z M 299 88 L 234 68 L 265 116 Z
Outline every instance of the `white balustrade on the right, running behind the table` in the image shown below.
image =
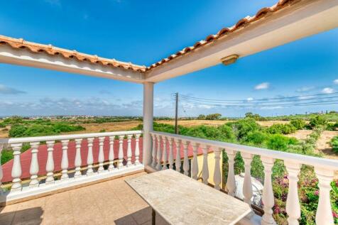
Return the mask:
M 264 148 L 255 148 L 251 146 L 242 146 L 233 143 L 224 143 L 221 141 L 211 141 L 202 138 L 192 138 L 187 136 L 180 136 L 170 133 L 163 133 L 153 131 L 151 132 L 153 138 L 153 162 L 152 165 L 156 165 L 156 169 L 165 170 L 166 165 L 169 164 L 169 168 L 173 168 L 175 163 L 176 170 L 184 172 L 185 175 L 189 174 L 191 171 L 191 177 L 197 179 L 197 172 L 199 171 L 197 164 L 197 150 L 202 148 L 203 152 L 203 163 L 202 163 L 202 182 L 205 184 L 208 183 L 209 179 L 209 168 L 207 162 L 207 153 L 208 150 L 214 151 L 214 176 L 210 179 L 214 181 L 214 188 L 219 190 L 221 185 L 221 169 L 219 165 L 220 153 L 223 150 L 227 153 L 229 158 L 229 173 L 227 176 L 227 185 L 226 190 L 228 194 L 235 195 L 235 175 L 234 175 L 234 158 L 237 152 L 241 153 L 241 156 L 244 160 L 245 176 L 244 176 L 244 202 L 251 204 L 251 197 L 253 196 L 252 184 L 251 184 L 251 162 L 254 155 L 260 155 L 261 160 L 264 166 L 264 188 L 263 188 L 263 210 L 264 214 L 261 219 L 261 224 L 276 224 L 273 219 L 273 188 L 271 182 L 271 174 L 273 163 L 276 159 L 283 160 L 285 168 L 288 172 L 289 180 L 289 191 L 288 198 L 286 202 L 286 212 L 288 213 L 288 224 L 298 224 L 298 219 L 300 218 L 300 202 L 298 198 L 298 175 L 300 172 L 301 165 L 312 165 L 315 168 L 315 173 L 319 180 L 320 188 L 320 199 L 317 207 L 316 214 L 316 224 L 334 224 L 332 217 L 332 208 L 329 199 L 329 191 L 331 190 L 330 182 L 334 178 L 334 171 L 338 170 L 338 161 L 329 160 L 325 158 L 315 158 L 307 155 L 298 155 L 293 153 L 285 153 L 277 150 L 268 150 Z M 164 142 L 163 142 L 164 141 Z M 161 144 L 163 142 L 164 144 Z M 165 143 L 168 142 L 169 146 Z M 189 167 L 187 149 L 192 148 L 193 156 L 191 168 Z M 167 155 L 161 158 L 162 152 L 165 153 L 166 148 L 168 147 L 168 158 Z M 162 148 L 165 148 L 163 150 Z M 175 162 L 173 158 L 173 148 L 177 149 Z M 183 167 L 181 171 L 181 157 L 180 151 L 184 150 L 183 156 Z M 161 165 L 163 164 L 163 165 Z M 252 216 L 252 213 L 250 216 Z

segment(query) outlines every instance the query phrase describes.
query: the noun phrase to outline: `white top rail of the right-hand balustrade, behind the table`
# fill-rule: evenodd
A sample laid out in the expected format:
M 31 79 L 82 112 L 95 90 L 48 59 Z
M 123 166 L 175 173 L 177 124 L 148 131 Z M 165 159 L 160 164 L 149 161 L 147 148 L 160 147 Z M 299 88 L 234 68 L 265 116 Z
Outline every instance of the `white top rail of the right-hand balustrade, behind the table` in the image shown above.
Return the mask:
M 222 141 L 212 141 L 203 138 L 194 138 L 189 136 L 182 136 L 173 133 L 165 133 L 159 131 L 151 131 L 151 134 L 159 136 L 165 136 L 170 138 L 176 138 L 184 141 L 190 141 L 192 143 L 202 143 L 206 146 L 214 146 L 217 148 L 225 148 L 228 150 L 235 150 L 244 153 L 250 153 L 254 155 L 261 155 L 269 158 L 276 158 L 280 160 L 288 160 L 290 162 L 302 163 L 305 165 L 312 165 L 318 168 L 325 168 L 330 170 L 338 170 L 338 160 L 331 160 L 327 158 L 317 158 L 309 155 L 300 155 L 296 153 L 285 153 L 279 150 L 270 150 L 267 148 L 257 148 L 252 146 L 244 146 L 234 143 L 227 143 Z

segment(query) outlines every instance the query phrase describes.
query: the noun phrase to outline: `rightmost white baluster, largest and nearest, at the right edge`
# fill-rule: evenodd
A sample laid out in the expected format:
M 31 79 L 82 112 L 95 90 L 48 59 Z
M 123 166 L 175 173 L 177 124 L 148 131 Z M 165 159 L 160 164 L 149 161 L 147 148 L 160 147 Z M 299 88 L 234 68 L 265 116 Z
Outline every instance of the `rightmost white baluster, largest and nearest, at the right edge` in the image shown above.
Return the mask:
M 332 217 L 329 191 L 331 190 L 330 183 L 333 180 L 334 171 L 324 168 L 315 168 L 315 173 L 318 178 L 318 187 L 320 188 L 320 199 L 317 206 L 316 224 L 333 225 L 334 221 Z

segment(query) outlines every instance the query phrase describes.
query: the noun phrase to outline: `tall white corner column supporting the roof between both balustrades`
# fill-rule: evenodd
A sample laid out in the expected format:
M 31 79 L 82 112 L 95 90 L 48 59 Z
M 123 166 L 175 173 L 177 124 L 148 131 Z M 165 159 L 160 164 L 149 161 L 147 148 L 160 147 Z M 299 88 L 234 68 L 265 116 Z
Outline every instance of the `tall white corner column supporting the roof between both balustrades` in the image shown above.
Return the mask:
M 143 83 L 143 165 L 151 165 L 151 135 L 153 131 L 153 83 Z

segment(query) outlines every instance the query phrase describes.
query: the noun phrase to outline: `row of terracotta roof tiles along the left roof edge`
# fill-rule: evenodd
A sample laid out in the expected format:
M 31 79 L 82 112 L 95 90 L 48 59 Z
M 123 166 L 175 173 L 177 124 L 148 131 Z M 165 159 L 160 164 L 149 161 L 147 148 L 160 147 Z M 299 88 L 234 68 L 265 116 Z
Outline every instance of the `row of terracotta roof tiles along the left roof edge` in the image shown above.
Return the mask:
M 76 50 L 67 50 L 64 48 L 57 48 L 53 45 L 43 45 L 39 43 L 32 43 L 23 38 L 9 38 L 4 35 L 0 35 L 0 45 L 9 45 L 11 48 L 26 48 L 33 53 L 47 53 L 49 55 L 62 55 L 65 58 L 75 58 L 84 62 L 99 63 L 102 65 L 121 67 L 126 70 L 133 70 L 138 72 L 144 72 L 145 66 L 134 65 L 131 62 L 121 62 L 114 59 L 107 59 L 104 57 L 98 57 L 97 55 L 88 55 L 84 53 L 78 53 Z

